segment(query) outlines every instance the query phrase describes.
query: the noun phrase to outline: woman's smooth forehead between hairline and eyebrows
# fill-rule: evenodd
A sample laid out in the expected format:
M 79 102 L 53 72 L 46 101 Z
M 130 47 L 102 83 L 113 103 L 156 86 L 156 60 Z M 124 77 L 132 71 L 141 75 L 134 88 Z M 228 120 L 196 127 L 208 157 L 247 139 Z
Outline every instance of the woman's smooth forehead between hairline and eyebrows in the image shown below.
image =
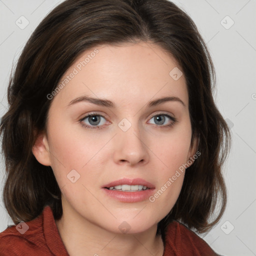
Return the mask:
M 156 44 L 98 45 L 80 54 L 66 70 L 53 101 L 67 104 L 75 97 L 90 95 L 121 104 L 178 96 L 186 103 L 185 77 L 173 79 L 172 70 L 178 75 L 182 72 L 174 57 Z

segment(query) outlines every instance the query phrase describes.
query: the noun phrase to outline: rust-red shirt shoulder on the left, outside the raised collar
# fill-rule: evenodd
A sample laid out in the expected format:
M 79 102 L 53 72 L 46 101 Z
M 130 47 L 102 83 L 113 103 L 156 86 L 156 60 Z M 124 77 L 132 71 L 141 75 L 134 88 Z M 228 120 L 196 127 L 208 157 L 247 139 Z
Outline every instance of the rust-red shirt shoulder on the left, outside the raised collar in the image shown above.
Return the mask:
M 33 220 L 21 221 L 17 225 L 9 226 L 0 232 L 0 248 L 3 256 L 24 255 L 24 252 L 26 255 L 30 255 L 31 252 L 33 255 L 42 255 L 46 252 L 44 250 L 43 214 L 41 213 Z

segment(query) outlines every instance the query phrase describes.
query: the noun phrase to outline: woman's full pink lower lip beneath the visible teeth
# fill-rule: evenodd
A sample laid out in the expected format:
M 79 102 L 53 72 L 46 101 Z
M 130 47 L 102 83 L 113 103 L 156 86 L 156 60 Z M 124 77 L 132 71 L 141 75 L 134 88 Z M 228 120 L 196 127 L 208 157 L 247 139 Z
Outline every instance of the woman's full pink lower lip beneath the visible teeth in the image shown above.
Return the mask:
M 147 200 L 155 190 L 154 188 L 150 188 L 150 189 L 141 190 L 137 192 L 124 192 L 119 190 L 110 190 L 107 188 L 102 188 L 102 189 L 105 191 L 107 195 L 121 202 L 139 202 L 139 201 Z

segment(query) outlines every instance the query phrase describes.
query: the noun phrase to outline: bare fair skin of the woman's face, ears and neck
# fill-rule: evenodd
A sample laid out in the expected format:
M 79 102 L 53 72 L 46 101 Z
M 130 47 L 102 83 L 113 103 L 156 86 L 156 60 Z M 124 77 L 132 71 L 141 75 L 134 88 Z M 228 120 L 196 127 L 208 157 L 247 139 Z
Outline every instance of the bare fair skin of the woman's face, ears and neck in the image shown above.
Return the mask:
M 156 44 L 96 48 L 98 53 L 81 70 L 76 68 L 79 72 L 51 99 L 47 133 L 37 137 L 32 151 L 41 164 L 52 167 L 61 189 L 63 215 L 56 225 L 69 255 L 162 255 L 157 223 L 176 202 L 184 172 L 154 202 L 120 202 L 101 187 L 139 177 L 157 191 L 195 153 L 185 77 L 172 79 L 169 72 L 181 68 Z M 62 78 L 93 49 L 83 52 Z M 83 95 L 111 100 L 116 108 L 85 101 L 68 106 Z M 178 97 L 184 105 L 173 100 L 146 107 L 165 96 Z M 104 116 L 96 119 L 101 128 L 87 129 L 79 122 L 92 112 Z M 157 124 L 153 116 L 164 118 L 162 112 L 177 122 L 165 116 Z M 118 126 L 123 118 L 131 124 L 125 132 Z M 88 118 L 83 123 L 93 126 Z M 67 178 L 72 169 L 80 175 L 74 183 Z M 127 233 L 118 228 L 123 221 L 130 227 Z

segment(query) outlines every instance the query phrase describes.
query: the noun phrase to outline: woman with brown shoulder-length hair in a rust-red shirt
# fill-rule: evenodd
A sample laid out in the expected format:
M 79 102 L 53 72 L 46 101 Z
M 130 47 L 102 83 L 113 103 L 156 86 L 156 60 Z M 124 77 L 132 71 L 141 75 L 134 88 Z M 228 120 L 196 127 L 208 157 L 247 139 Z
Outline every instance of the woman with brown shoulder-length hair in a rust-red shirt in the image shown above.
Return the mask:
M 3 199 L 16 226 L 0 233 L 3 255 L 217 255 L 194 232 L 226 204 L 214 82 L 196 26 L 167 0 L 54 8 L 8 85 Z

